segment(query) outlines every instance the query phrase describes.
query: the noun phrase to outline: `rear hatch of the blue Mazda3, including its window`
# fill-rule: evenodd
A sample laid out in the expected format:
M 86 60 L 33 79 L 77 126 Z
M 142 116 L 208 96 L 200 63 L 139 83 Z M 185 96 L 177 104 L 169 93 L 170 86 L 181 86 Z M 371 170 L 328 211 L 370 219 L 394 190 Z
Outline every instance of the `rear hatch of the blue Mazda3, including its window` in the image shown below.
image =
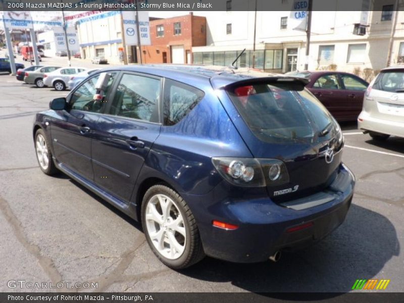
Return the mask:
M 231 103 L 222 103 L 252 155 L 262 159 L 268 194 L 277 203 L 323 190 L 341 163 L 339 125 L 306 84 L 307 79 L 271 77 L 223 87 Z M 231 104 L 238 115 L 231 114 Z M 268 181 L 270 165 L 264 159 L 281 160 L 288 181 Z

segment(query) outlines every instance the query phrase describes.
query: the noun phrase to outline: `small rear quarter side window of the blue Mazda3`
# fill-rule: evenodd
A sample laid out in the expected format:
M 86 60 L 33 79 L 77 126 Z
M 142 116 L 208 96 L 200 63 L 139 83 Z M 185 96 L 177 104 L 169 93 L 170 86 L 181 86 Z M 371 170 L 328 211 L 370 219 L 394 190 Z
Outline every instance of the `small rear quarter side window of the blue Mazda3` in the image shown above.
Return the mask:
M 180 122 L 204 97 L 205 93 L 193 86 L 166 79 L 164 85 L 164 125 Z

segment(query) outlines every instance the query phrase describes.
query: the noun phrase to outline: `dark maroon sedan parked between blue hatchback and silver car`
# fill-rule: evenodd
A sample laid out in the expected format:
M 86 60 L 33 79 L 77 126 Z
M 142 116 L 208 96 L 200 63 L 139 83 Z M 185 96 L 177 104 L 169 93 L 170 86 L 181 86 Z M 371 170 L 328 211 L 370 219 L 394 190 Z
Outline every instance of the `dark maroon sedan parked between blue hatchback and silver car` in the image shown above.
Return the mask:
M 286 75 L 309 78 L 308 88 L 337 121 L 356 121 L 369 83 L 344 72 L 302 71 Z

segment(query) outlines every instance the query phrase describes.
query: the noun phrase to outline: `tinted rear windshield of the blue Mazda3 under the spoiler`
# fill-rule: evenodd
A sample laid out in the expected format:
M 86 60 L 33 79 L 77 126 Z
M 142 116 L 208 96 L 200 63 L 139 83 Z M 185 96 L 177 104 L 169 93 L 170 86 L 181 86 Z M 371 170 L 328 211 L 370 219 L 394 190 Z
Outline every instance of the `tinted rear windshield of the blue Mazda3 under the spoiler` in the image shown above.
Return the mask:
M 251 131 L 266 142 L 312 143 L 335 123 L 300 83 L 239 86 L 229 89 L 228 94 Z

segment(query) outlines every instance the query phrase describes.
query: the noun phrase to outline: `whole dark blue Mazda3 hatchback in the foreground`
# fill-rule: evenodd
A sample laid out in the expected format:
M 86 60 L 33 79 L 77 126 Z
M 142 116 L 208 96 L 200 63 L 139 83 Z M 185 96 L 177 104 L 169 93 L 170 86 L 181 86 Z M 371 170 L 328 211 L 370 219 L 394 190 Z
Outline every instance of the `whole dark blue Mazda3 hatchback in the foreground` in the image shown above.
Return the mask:
M 262 76 L 260 76 L 262 75 Z M 355 185 L 307 79 L 196 66 L 97 71 L 38 113 L 36 156 L 142 223 L 167 266 L 271 259 L 344 220 Z

